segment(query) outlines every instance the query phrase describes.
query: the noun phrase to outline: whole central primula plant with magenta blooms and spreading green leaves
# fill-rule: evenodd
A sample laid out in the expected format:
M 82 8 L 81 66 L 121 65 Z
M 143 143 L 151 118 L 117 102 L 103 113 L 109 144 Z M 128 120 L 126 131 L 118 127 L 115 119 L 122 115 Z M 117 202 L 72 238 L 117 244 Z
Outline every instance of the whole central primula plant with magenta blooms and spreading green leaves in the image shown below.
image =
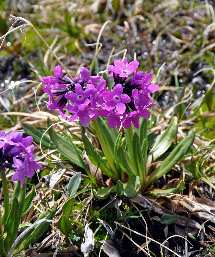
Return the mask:
M 151 171 L 150 163 L 164 153 L 176 137 L 177 118 L 173 118 L 168 130 L 148 153 L 154 139 L 153 133 L 147 133 L 149 109 L 156 104 L 150 94 L 156 92 L 159 86 L 150 82 L 151 73 L 135 72 L 138 65 L 138 61 L 127 64 L 127 58 L 124 58 L 123 61 L 115 60 L 114 65 L 109 65 L 108 70 L 101 71 L 100 73 L 109 72 L 108 77 L 113 77 L 113 86 L 109 89 L 106 87 L 110 85 L 107 76 L 104 76 L 106 80 L 101 76 L 91 76 L 86 68 L 81 68 L 81 76 L 73 81 L 69 77 L 63 77 L 60 66 L 55 68 L 55 76 L 42 79 L 45 85 L 43 91 L 49 94 L 48 109 L 58 111 L 66 121 L 71 113 L 68 122 L 79 118 L 84 127 L 90 124 L 93 126 L 104 157 L 101 157 L 87 136 L 82 134 L 84 150 L 91 162 L 99 166 L 116 184 L 99 190 L 96 193 L 99 198 L 106 197 L 110 191 L 115 191 L 117 195 L 124 194 L 129 198 L 136 196 L 139 190 L 145 190 L 154 180 L 165 175 L 177 162 L 185 158 L 194 140 L 194 133 L 191 133 L 175 147 L 160 167 Z M 49 120 L 48 126 L 50 125 Z M 27 133 L 32 132 L 29 125 L 23 125 L 23 128 Z M 33 134 L 37 134 L 35 129 Z M 71 160 L 68 151 L 64 150 L 68 141 L 63 142 L 62 137 L 55 134 L 53 128 L 49 128 L 49 136 L 56 148 Z M 159 154 L 160 146 L 162 147 Z M 80 153 L 80 149 L 73 145 L 71 153 L 72 161 L 84 168 L 93 182 L 93 178 L 83 165 L 82 151 Z M 181 181 L 176 191 L 184 186 L 184 182 Z

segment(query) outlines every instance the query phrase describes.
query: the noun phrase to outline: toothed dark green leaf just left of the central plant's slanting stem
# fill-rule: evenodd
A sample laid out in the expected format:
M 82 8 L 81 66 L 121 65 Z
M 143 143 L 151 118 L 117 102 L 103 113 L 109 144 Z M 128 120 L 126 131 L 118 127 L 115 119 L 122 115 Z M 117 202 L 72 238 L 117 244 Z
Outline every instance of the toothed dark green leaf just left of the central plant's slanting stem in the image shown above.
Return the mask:
M 99 168 L 103 171 L 103 173 L 115 180 L 116 176 L 114 175 L 114 173 L 107 167 L 105 162 L 101 159 L 101 156 L 99 155 L 99 153 L 91 144 L 90 140 L 84 134 L 82 134 L 82 141 L 84 143 L 84 150 L 86 151 L 90 161 L 96 166 L 98 166 L 100 162 Z

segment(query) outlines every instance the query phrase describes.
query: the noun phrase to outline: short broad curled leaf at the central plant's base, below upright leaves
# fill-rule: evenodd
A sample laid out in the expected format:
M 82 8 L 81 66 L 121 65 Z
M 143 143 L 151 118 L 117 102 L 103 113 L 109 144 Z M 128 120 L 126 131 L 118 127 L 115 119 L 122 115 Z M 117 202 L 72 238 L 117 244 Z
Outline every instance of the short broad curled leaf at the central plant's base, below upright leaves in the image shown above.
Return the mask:
M 126 184 L 123 183 L 124 195 L 128 198 L 136 197 L 140 189 L 140 178 L 131 176 Z

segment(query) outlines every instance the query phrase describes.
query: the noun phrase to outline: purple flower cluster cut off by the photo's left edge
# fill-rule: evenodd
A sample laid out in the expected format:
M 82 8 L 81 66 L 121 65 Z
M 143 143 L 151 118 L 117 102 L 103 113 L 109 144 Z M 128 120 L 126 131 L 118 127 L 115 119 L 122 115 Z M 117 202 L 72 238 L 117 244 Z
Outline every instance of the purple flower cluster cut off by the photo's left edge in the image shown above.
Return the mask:
M 23 138 L 22 133 L 13 131 L 8 135 L 0 133 L 0 166 L 15 170 L 13 181 L 20 180 L 21 188 L 24 184 L 24 175 L 32 177 L 34 169 L 42 165 L 33 160 L 32 136 Z

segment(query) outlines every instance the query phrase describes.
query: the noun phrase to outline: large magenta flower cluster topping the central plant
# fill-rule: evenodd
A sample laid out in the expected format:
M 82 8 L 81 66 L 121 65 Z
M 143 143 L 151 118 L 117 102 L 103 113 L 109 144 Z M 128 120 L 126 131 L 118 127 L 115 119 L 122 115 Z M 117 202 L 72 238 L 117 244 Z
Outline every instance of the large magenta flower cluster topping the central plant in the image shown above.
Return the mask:
M 108 125 L 111 128 L 121 124 L 124 128 L 130 128 L 131 123 L 139 128 L 139 119 L 150 118 L 147 108 L 153 107 L 156 103 L 151 93 L 158 90 L 158 85 L 150 83 L 152 74 L 142 71 L 135 72 L 139 62 L 132 61 L 127 64 L 127 58 L 123 61 L 115 60 L 114 65 L 109 65 L 109 76 L 113 76 L 115 86 L 113 91 L 107 89 L 106 80 L 101 76 L 90 76 L 86 68 L 81 68 L 81 77 L 73 81 L 68 77 L 63 77 L 62 67 L 55 68 L 55 76 L 42 79 L 45 87 L 43 91 L 49 94 L 47 108 L 57 110 L 59 114 L 67 120 L 63 111 L 66 109 L 73 115 L 69 122 L 79 118 L 80 123 L 87 127 L 90 118 L 96 120 L 98 116 L 107 117 Z M 133 72 L 133 78 L 126 82 L 126 79 Z M 67 101 L 71 103 L 67 103 Z

